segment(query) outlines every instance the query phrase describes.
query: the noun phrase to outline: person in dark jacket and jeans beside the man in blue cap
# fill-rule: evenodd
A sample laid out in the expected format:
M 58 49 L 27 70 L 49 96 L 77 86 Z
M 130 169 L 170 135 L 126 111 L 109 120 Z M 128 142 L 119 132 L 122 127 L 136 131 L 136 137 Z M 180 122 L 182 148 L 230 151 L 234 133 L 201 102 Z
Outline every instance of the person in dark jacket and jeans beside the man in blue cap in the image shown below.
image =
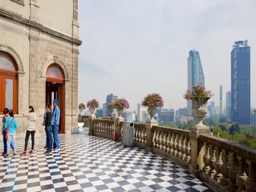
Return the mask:
M 45 131 L 46 131 L 46 146 L 47 151 L 46 154 L 49 154 L 52 152 L 52 146 L 53 146 L 53 138 L 52 138 L 52 125 L 51 125 L 51 119 L 52 119 L 52 111 L 51 111 L 51 103 L 47 104 L 46 106 L 46 113 L 45 113 Z

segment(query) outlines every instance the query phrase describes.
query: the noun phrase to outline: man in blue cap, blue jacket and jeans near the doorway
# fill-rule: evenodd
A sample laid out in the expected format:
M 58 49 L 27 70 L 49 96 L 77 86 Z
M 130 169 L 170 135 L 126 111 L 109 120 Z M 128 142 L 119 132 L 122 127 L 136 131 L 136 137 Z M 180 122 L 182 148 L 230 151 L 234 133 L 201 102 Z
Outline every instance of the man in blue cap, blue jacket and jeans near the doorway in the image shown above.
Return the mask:
M 53 129 L 53 150 L 59 150 L 59 118 L 61 113 L 59 110 L 59 101 L 53 100 L 52 129 Z

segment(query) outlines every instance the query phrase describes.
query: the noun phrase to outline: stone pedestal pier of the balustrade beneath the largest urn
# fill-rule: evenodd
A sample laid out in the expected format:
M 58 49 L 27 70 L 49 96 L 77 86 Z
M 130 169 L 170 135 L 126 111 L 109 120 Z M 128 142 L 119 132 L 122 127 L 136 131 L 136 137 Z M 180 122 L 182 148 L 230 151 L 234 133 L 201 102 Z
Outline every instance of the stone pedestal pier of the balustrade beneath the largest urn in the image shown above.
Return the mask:
M 208 126 L 194 125 L 189 134 L 191 141 L 191 162 L 189 170 L 196 174 L 198 169 L 202 169 L 204 166 L 203 156 L 205 155 L 205 148 L 199 146 L 197 141 L 199 135 L 210 135 L 210 128 Z

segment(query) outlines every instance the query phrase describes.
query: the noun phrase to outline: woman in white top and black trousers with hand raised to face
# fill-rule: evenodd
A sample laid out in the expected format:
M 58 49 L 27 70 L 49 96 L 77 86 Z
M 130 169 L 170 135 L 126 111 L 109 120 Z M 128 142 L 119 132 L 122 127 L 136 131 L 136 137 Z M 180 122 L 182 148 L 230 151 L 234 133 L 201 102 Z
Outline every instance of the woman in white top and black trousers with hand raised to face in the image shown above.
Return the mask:
M 29 106 L 28 112 L 24 113 L 23 115 L 25 115 L 28 119 L 28 127 L 27 127 L 26 138 L 25 138 L 25 147 L 24 147 L 24 152 L 22 152 L 22 156 L 26 156 L 27 148 L 28 148 L 28 138 L 30 137 L 30 134 L 31 134 L 31 140 L 32 140 L 30 154 L 32 154 L 34 150 L 34 134 L 36 133 L 37 116 L 36 116 L 36 113 L 34 113 L 33 106 Z

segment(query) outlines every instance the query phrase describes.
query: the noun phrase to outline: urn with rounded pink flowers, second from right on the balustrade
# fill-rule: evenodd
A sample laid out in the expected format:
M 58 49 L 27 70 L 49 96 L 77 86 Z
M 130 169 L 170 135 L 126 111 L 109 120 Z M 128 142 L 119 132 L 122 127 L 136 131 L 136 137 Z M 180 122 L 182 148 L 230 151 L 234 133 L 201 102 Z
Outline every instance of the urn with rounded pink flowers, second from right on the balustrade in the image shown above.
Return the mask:
M 142 105 L 148 106 L 148 114 L 150 115 L 150 122 L 152 122 L 153 117 L 156 114 L 156 108 L 164 106 L 164 101 L 160 94 L 148 94 L 148 96 L 143 99 Z

